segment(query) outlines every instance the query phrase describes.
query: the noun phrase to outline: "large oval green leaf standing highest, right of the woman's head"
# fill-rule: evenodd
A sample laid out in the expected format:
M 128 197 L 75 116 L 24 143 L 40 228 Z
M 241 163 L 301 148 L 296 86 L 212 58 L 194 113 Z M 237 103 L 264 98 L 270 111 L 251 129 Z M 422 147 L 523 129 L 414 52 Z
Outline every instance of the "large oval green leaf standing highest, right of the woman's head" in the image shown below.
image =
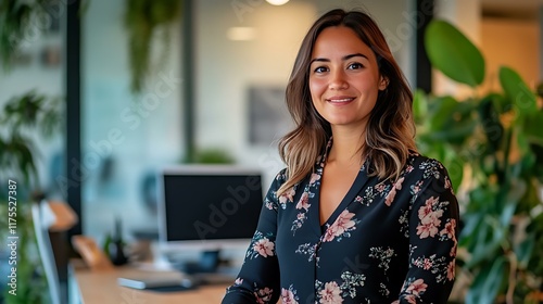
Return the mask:
M 425 48 L 435 68 L 472 88 L 482 84 L 484 59 L 479 49 L 454 25 L 433 20 L 425 35 Z

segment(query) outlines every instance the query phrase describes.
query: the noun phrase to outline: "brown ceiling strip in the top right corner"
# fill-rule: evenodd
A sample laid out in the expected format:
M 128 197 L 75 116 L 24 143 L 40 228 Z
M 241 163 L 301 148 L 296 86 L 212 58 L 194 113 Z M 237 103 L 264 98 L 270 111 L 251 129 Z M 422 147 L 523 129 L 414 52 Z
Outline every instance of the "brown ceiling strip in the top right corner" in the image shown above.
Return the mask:
M 481 0 L 485 16 L 536 20 L 543 10 L 543 0 Z

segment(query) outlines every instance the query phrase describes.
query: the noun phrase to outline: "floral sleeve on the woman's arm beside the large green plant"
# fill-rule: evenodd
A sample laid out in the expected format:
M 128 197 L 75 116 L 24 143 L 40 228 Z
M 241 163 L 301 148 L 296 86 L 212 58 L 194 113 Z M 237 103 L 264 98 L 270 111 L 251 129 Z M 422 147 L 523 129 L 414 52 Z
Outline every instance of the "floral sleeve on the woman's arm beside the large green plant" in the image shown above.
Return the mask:
M 458 203 L 446 169 L 429 160 L 411 186 L 409 264 L 395 303 L 446 303 L 455 278 Z

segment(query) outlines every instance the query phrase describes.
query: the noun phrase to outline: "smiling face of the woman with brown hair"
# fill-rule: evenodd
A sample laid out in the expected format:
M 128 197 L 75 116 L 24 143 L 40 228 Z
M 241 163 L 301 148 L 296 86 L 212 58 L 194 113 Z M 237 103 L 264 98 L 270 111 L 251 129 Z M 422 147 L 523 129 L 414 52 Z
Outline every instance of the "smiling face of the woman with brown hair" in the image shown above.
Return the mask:
M 310 65 L 310 91 L 317 112 L 332 127 L 364 131 L 379 90 L 374 51 L 349 27 L 325 28 L 317 37 Z

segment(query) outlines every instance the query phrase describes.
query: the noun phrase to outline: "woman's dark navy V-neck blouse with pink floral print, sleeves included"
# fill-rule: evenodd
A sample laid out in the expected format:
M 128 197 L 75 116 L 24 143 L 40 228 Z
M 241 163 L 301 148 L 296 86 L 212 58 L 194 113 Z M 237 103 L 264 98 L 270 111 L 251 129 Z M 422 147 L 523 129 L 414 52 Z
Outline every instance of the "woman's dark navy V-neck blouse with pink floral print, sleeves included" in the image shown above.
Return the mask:
M 330 145 L 330 144 L 329 144 Z M 265 197 L 231 303 L 446 303 L 455 278 L 458 204 L 446 169 L 413 154 L 397 180 L 362 166 L 324 225 L 320 177 L 314 173 L 282 195 L 281 170 Z

